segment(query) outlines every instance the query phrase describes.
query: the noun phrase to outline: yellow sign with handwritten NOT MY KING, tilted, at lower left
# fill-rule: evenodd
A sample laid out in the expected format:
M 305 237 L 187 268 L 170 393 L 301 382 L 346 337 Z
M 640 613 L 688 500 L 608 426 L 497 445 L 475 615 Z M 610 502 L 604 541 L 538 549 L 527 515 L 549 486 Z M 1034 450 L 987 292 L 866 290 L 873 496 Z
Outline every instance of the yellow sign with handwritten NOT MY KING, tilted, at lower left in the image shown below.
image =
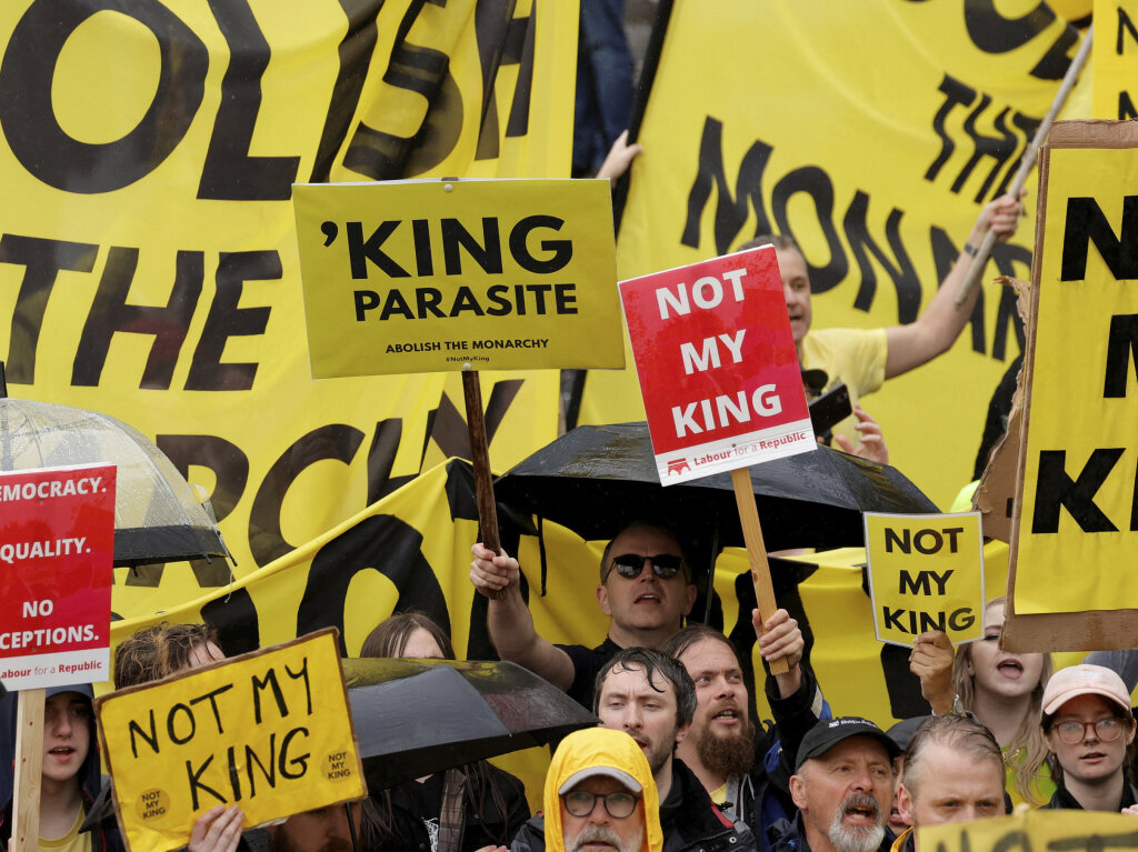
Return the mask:
M 98 702 L 130 849 L 184 846 L 238 804 L 245 827 L 366 795 L 336 630 L 327 628 Z

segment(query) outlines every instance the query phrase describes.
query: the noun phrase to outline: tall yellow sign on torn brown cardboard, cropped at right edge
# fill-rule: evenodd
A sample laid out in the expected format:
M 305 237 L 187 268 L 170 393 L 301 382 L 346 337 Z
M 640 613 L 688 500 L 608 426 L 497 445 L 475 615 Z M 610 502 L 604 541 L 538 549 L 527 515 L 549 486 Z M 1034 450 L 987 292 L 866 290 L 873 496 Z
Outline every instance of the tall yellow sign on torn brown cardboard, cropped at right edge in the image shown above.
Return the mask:
M 1138 129 L 1059 122 L 1041 158 L 1004 645 L 1138 646 Z M 1087 615 L 1094 612 L 1094 618 Z

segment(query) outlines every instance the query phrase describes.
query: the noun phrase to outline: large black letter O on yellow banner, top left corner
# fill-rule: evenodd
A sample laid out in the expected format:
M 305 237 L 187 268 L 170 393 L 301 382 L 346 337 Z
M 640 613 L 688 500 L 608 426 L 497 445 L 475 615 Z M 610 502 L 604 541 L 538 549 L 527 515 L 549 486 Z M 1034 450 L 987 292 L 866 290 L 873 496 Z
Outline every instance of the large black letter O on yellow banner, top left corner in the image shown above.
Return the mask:
M 90 144 L 59 125 L 51 84 L 67 39 L 100 11 L 127 15 L 150 30 L 162 69 L 138 126 L 114 142 Z M 13 154 L 36 179 L 65 192 L 110 192 L 149 174 L 182 141 L 201 106 L 208 67 L 206 46 L 156 0 L 36 0 L 13 30 L 0 63 L 0 125 Z

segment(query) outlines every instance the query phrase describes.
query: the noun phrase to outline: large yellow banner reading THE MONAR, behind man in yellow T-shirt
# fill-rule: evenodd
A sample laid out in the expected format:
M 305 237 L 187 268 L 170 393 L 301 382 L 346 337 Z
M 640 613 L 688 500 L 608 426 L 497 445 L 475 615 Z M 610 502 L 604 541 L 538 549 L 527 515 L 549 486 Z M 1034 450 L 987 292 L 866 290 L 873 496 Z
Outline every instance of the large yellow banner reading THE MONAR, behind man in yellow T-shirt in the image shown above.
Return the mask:
M 1006 191 L 1078 48 L 1046 3 L 1016 6 L 677 0 L 620 224 L 621 279 L 790 233 L 813 328 L 915 320 Z M 1033 208 L 1031 189 L 983 280 L 1026 278 Z M 1014 303 L 984 284 L 948 354 L 865 399 L 891 463 L 938 505 L 972 479 L 988 402 L 1023 341 Z M 582 422 L 640 419 L 632 371 L 588 375 Z

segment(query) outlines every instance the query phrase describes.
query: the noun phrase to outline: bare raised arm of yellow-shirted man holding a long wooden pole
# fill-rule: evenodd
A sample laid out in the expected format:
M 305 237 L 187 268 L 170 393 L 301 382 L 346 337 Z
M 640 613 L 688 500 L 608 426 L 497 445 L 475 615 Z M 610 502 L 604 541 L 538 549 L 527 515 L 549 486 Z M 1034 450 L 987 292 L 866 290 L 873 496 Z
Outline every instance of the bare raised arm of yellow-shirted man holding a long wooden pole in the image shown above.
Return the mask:
M 980 293 L 980 288 L 974 287 L 959 308 L 954 304 L 964 276 L 972 266 L 972 255 L 968 249 L 975 250 L 983 242 L 989 229 L 996 233 L 1000 242 L 1006 242 L 1015 233 L 1022 209 L 1020 202 L 1012 196 L 1000 196 L 987 204 L 968 234 L 968 241 L 941 282 L 937 295 L 932 297 L 929 307 L 921 313 L 916 322 L 885 329 L 889 345 L 889 355 L 885 359 L 887 379 L 932 361 L 948 351 L 956 342 L 956 338 L 960 336 L 965 323 L 972 316 L 972 308 Z

